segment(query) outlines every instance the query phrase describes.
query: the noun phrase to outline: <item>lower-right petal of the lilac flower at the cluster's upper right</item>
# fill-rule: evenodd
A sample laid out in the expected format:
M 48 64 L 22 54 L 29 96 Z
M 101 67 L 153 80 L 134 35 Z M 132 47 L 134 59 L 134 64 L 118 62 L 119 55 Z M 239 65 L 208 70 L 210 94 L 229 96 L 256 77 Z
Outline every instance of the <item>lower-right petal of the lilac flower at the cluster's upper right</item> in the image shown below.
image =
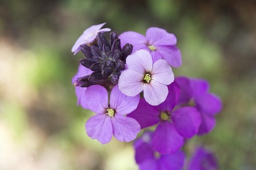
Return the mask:
M 181 53 L 176 45 L 159 46 L 156 51 L 172 67 L 180 67 L 182 65 Z

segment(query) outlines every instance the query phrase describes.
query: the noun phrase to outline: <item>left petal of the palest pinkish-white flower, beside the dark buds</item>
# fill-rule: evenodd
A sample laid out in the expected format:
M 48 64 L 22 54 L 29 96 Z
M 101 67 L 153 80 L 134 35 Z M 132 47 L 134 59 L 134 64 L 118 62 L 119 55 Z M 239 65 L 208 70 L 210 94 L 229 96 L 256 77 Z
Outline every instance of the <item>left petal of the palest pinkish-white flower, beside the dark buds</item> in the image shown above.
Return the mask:
M 118 86 L 120 91 L 128 96 L 136 96 L 143 90 L 144 75 L 137 71 L 127 69 L 121 73 Z

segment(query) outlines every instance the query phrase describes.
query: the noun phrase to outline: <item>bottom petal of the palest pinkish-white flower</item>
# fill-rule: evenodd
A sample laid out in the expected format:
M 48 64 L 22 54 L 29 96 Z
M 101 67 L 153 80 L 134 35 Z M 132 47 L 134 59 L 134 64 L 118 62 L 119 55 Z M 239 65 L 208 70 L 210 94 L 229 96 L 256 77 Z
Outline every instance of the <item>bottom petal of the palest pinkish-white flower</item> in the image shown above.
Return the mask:
M 144 83 L 144 98 L 150 105 L 159 105 L 164 102 L 168 95 L 167 85 L 150 80 Z

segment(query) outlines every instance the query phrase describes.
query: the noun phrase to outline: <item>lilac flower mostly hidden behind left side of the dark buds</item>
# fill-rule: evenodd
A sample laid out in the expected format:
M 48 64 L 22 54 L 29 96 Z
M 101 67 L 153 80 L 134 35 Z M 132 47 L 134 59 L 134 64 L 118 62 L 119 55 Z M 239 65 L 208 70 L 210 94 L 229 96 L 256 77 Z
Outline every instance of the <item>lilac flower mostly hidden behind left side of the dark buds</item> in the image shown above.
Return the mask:
M 72 78 L 72 83 L 74 84 L 77 78 L 83 77 L 84 75 L 89 75 L 91 73 L 92 71 L 90 69 L 80 64 L 76 75 L 74 75 L 74 77 Z M 78 106 L 81 105 L 82 108 L 84 109 L 88 109 L 87 102 L 85 101 L 85 97 L 84 97 L 84 91 L 86 91 L 86 89 L 87 89 L 86 87 L 75 86 L 75 92 L 77 97 L 76 105 Z

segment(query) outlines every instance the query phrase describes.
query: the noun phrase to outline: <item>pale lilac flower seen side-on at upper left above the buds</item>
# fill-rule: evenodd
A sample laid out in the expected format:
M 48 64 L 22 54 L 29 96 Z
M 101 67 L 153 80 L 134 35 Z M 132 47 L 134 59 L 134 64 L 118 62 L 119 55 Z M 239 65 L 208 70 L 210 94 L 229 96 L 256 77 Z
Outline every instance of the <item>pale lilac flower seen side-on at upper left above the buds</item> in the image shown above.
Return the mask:
M 85 45 L 85 44 L 94 42 L 98 32 L 103 33 L 103 32 L 110 31 L 111 30 L 110 28 L 100 29 L 105 24 L 106 24 L 106 22 L 87 28 L 84 31 L 84 33 L 76 40 L 76 43 L 72 47 L 71 51 L 74 52 L 74 55 L 76 55 L 76 53 L 78 53 L 78 51 L 80 51 L 80 49 L 81 49 L 80 45 Z

